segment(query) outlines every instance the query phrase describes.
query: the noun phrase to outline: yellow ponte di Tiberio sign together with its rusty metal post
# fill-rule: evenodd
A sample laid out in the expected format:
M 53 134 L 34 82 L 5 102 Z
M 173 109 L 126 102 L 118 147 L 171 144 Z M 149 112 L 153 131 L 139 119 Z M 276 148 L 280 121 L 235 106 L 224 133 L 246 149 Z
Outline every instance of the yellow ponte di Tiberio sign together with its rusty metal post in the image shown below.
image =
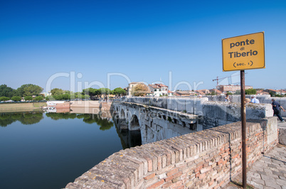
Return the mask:
M 244 70 L 265 68 L 264 32 L 225 38 L 221 43 L 223 48 L 223 72 L 240 70 L 243 188 L 246 188 L 247 153 Z

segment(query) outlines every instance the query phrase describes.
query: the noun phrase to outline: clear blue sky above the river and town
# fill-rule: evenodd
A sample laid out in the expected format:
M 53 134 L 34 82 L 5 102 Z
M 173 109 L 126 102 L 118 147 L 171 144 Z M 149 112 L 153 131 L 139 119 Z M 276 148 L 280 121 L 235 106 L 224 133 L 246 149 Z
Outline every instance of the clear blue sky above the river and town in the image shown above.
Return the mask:
M 266 68 L 246 71 L 245 84 L 284 89 L 286 1 L 1 0 L 0 85 L 46 89 L 65 74 L 51 88 L 81 90 L 108 87 L 110 73 L 111 89 L 127 87 L 122 75 L 210 89 L 235 74 L 222 71 L 221 39 L 260 31 Z

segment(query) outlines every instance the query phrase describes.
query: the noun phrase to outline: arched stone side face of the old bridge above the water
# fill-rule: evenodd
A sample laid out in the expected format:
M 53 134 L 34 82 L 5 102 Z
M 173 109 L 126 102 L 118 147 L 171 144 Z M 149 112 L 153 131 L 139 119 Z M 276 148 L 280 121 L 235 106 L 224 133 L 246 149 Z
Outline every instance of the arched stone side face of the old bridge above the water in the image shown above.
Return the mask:
M 133 102 L 113 102 L 118 129 L 140 131 L 142 144 L 201 131 L 198 115 Z

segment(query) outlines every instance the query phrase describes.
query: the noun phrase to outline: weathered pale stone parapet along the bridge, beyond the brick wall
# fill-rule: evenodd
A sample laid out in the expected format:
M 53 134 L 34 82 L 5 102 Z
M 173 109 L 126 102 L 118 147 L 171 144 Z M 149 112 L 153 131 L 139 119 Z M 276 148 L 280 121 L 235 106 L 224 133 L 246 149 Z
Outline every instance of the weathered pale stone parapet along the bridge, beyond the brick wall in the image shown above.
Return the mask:
M 129 97 L 122 99 L 122 102 L 135 102 L 195 114 L 201 117 L 198 124 L 203 126 L 203 129 L 240 121 L 239 102 L 208 101 L 207 97 Z M 246 104 L 246 119 L 263 119 L 272 116 L 271 104 Z

